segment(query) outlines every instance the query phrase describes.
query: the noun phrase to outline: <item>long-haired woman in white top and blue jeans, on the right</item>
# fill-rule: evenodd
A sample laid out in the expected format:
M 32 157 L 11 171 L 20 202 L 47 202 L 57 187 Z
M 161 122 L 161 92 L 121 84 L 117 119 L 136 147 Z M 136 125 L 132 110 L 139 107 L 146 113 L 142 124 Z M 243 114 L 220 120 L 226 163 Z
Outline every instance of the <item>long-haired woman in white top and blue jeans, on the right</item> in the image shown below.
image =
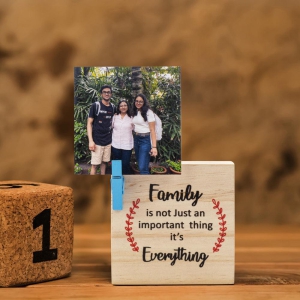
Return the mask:
M 140 174 L 150 174 L 150 155 L 157 155 L 155 118 L 144 94 L 139 94 L 134 99 L 132 122 L 134 125 L 134 152 Z

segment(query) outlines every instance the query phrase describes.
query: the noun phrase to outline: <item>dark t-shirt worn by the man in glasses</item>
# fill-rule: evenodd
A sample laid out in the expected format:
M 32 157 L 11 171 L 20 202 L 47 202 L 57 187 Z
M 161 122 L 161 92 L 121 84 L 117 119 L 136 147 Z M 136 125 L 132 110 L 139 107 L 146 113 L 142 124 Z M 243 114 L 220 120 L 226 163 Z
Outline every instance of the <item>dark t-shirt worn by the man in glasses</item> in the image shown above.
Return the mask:
M 99 101 L 98 103 L 100 103 L 100 109 L 98 108 L 98 116 L 96 103 L 92 104 L 89 113 L 89 118 L 94 119 L 92 136 L 96 145 L 106 146 L 111 144 L 112 140 L 111 123 L 114 116 L 114 109 L 111 104 L 109 106 L 106 106 L 101 103 L 101 101 Z

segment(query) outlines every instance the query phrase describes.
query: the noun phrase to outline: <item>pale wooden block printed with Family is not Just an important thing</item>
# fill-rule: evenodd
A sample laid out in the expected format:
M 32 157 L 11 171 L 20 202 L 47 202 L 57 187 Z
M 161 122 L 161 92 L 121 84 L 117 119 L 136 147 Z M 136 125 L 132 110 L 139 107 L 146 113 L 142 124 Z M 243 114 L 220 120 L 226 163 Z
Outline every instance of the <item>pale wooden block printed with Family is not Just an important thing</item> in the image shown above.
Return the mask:
M 233 284 L 234 203 L 232 162 L 125 175 L 123 209 L 112 209 L 112 283 Z

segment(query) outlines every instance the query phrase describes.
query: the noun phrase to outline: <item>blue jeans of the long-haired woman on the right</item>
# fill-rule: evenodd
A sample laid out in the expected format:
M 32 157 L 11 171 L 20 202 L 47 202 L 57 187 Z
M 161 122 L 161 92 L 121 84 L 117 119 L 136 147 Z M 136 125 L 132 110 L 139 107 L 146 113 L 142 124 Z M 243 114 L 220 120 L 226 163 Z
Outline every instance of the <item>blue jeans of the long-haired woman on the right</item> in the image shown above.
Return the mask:
M 150 174 L 149 173 L 149 162 L 150 162 L 150 152 L 151 141 L 150 135 L 139 136 L 134 135 L 134 152 L 139 165 L 140 174 Z

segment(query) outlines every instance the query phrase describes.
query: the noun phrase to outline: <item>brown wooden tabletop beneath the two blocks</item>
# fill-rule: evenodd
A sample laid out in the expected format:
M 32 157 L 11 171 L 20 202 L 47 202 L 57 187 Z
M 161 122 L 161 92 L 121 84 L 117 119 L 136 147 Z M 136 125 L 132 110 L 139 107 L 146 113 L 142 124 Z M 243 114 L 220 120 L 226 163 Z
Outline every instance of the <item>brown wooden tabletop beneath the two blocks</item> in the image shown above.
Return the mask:
M 1 288 L 1 299 L 299 299 L 300 228 L 236 226 L 234 285 L 113 286 L 110 224 L 76 225 L 72 274 L 23 288 Z

